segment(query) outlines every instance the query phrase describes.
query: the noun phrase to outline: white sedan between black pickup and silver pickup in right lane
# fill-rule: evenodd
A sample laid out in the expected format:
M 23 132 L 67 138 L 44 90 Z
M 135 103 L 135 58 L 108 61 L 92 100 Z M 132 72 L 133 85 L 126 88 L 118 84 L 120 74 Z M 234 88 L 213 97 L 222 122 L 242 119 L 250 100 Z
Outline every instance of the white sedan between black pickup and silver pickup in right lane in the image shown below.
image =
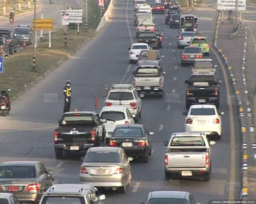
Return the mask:
M 221 115 L 224 112 L 219 114 L 215 105 L 192 105 L 188 113 L 184 112 L 183 115 L 186 115 L 186 132 L 203 132 L 221 139 Z

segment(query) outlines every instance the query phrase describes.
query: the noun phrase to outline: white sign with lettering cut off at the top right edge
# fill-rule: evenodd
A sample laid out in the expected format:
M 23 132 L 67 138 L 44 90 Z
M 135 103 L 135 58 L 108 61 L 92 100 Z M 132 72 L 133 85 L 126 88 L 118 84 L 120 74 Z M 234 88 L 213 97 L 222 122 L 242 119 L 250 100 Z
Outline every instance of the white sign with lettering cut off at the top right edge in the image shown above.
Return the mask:
M 218 0 L 217 10 L 236 10 L 236 0 Z M 246 10 L 246 0 L 238 0 L 238 11 Z

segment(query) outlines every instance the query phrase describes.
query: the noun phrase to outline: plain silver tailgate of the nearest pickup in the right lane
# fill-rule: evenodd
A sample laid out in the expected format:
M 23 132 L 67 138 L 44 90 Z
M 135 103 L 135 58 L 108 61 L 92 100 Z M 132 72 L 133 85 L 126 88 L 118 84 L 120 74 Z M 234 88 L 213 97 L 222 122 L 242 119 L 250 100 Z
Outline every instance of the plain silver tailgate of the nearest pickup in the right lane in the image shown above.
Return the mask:
M 205 167 L 204 152 L 173 152 L 168 154 L 168 168 Z

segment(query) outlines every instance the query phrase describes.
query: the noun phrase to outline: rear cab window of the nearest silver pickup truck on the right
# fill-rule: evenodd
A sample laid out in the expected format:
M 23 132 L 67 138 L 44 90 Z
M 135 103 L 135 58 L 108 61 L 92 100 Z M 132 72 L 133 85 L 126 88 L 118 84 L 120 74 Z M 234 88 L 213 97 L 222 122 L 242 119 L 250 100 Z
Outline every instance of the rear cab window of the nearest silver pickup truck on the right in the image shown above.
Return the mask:
M 205 146 L 205 141 L 201 136 L 174 137 L 170 146 Z

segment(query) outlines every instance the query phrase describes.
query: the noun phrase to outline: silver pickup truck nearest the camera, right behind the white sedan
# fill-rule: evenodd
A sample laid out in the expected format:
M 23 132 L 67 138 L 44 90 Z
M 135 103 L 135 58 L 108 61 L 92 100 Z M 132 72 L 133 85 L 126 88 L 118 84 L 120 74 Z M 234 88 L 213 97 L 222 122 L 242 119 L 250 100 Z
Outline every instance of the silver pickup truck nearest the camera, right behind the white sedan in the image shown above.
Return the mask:
M 216 142 L 210 141 L 210 145 Z M 181 176 L 203 175 L 204 181 L 210 180 L 210 147 L 204 133 L 173 133 L 169 141 L 163 142 L 165 151 L 165 179 L 173 173 Z

